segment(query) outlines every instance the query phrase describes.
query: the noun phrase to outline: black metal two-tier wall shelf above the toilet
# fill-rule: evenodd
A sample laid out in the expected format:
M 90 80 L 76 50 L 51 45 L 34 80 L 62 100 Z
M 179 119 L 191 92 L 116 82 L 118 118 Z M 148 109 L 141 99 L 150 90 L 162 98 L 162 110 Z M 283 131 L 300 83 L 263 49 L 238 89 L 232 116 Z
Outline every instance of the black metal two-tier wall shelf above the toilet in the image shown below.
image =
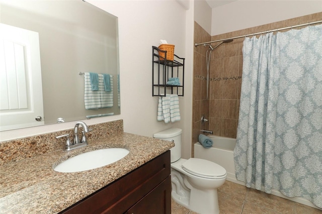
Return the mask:
M 167 59 L 167 51 L 152 46 L 152 96 L 166 96 L 167 93 L 183 96 L 185 58 L 174 54 L 173 61 L 164 60 L 159 56 L 159 52 L 165 53 Z M 171 77 L 178 77 L 181 85 L 167 84 Z

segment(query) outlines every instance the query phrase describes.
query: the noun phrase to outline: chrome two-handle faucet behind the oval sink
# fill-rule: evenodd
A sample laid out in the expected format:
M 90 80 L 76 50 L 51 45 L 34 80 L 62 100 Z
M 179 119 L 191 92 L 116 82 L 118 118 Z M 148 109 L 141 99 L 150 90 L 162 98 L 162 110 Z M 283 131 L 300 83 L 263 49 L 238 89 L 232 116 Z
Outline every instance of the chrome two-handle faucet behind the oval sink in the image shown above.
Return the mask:
M 83 128 L 81 142 L 79 142 L 79 138 L 78 138 L 78 127 L 79 126 L 81 126 Z M 73 150 L 73 149 L 88 145 L 87 137 L 86 137 L 85 133 L 88 133 L 90 131 L 92 131 L 92 130 L 88 128 L 86 123 L 84 123 L 82 121 L 79 121 L 79 122 L 77 122 L 75 124 L 75 127 L 74 127 L 74 132 L 73 132 L 73 139 L 74 140 L 73 140 L 73 143 L 71 143 L 70 140 L 69 140 L 69 134 L 57 136 L 56 138 L 66 137 L 67 140 L 66 140 L 66 143 L 65 143 L 65 150 L 70 151 L 70 150 Z

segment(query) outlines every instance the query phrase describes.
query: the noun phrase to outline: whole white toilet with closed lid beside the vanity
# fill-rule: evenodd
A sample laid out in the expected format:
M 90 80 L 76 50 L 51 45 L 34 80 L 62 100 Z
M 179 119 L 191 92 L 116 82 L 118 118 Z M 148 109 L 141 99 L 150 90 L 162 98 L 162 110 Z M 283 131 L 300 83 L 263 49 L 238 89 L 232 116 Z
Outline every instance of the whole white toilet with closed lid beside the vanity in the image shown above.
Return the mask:
M 226 180 L 226 170 L 211 161 L 181 158 L 181 134 L 178 128 L 155 133 L 154 138 L 173 141 L 171 149 L 172 198 L 179 204 L 202 214 L 219 213 L 217 188 Z

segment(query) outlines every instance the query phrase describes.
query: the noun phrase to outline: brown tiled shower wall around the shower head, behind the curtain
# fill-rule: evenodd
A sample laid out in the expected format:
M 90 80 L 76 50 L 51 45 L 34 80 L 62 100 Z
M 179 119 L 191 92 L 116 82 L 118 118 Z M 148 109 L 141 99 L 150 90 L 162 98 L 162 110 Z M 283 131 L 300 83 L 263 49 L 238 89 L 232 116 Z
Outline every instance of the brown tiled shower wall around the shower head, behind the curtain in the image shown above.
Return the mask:
M 319 20 L 322 20 L 322 12 L 212 37 L 195 22 L 194 40 L 195 43 L 215 41 Z M 208 98 L 206 96 L 206 52 L 208 48 L 203 45 L 194 48 L 193 144 L 198 141 L 198 135 L 202 129 L 213 131 L 213 134 L 218 136 L 236 137 L 243 70 L 243 42 L 244 38 L 235 39 L 233 42 L 220 45 L 211 52 Z M 217 44 L 212 43 L 211 45 L 214 47 Z M 209 120 L 203 125 L 201 124 L 202 115 Z

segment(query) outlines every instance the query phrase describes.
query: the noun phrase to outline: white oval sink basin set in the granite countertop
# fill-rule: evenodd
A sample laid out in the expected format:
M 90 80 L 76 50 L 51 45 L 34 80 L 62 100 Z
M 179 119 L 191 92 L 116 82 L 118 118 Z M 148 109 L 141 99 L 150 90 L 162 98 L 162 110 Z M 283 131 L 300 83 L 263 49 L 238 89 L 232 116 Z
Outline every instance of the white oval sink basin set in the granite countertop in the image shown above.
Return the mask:
M 82 172 L 114 163 L 124 158 L 129 151 L 123 148 L 99 149 L 71 157 L 58 164 L 57 172 Z

